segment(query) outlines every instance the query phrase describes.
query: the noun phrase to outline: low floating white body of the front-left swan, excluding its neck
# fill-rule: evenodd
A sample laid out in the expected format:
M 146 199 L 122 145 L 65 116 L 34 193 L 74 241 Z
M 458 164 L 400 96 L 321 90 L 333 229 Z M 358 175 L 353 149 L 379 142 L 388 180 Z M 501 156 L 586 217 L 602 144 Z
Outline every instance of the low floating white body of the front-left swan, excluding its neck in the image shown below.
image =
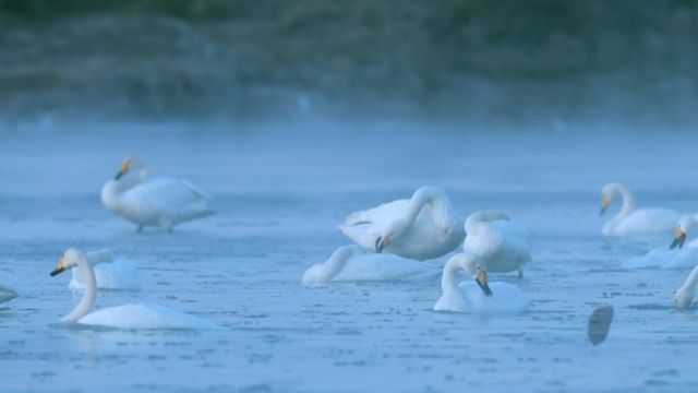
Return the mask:
M 218 329 L 215 323 L 160 305 L 123 305 L 94 311 L 80 324 L 116 329 Z

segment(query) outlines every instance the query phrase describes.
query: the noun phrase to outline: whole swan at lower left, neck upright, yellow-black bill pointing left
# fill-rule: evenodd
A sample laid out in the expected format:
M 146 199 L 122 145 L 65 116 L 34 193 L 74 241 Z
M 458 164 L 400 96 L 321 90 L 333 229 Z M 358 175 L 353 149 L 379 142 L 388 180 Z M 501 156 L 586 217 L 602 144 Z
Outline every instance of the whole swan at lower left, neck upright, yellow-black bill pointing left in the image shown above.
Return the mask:
M 95 271 L 81 250 L 69 248 L 58 261 L 51 276 L 77 267 L 85 277 L 85 293 L 77 306 L 61 322 L 117 329 L 218 329 L 210 321 L 185 314 L 160 305 L 136 303 L 92 311 L 97 299 Z

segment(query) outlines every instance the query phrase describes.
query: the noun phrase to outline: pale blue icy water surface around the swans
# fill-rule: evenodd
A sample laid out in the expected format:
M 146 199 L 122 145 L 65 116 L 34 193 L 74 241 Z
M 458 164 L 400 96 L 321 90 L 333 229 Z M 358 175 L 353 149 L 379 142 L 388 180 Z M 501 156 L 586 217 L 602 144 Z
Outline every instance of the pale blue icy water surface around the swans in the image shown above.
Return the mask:
M 456 127 L 77 124 L 0 133 L 0 271 L 21 297 L 0 309 L 0 390 L 447 392 L 696 391 L 698 311 L 672 308 L 688 271 L 623 271 L 671 238 L 606 239 L 601 186 L 626 182 L 645 206 L 696 212 L 690 133 L 467 132 Z M 137 153 L 152 172 L 190 179 L 216 216 L 173 234 L 99 202 Z M 438 282 L 304 288 L 313 263 L 348 242 L 346 214 L 441 186 L 462 214 L 496 209 L 535 235 L 513 317 L 436 313 Z M 612 210 L 617 209 L 613 206 Z M 135 261 L 141 291 L 97 307 L 157 301 L 222 331 L 67 329 L 79 300 L 70 247 Z M 442 259 L 440 262 L 444 262 Z M 587 320 L 615 307 L 593 347 Z

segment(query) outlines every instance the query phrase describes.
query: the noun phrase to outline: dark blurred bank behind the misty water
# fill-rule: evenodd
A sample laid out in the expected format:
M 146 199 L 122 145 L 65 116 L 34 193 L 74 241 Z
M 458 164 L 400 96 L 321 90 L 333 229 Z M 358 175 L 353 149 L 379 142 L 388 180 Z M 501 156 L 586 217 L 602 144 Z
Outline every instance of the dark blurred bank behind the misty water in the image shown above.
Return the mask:
M 690 123 L 698 1 L 0 0 L 0 117 Z

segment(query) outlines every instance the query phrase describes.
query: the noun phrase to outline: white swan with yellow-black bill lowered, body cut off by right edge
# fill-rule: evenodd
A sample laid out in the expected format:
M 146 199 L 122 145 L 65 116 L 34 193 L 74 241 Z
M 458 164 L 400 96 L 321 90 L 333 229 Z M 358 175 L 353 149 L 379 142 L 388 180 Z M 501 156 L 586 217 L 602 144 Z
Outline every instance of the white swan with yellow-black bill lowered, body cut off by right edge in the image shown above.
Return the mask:
M 623 263 L 623 269 L 690 269 L 698 265 L 698 239 L 686 243 L 696 234 L 698 215 L 685 215 L 676 224 L 674 241 L 669 248 L 660 247 L 647 254 Z

